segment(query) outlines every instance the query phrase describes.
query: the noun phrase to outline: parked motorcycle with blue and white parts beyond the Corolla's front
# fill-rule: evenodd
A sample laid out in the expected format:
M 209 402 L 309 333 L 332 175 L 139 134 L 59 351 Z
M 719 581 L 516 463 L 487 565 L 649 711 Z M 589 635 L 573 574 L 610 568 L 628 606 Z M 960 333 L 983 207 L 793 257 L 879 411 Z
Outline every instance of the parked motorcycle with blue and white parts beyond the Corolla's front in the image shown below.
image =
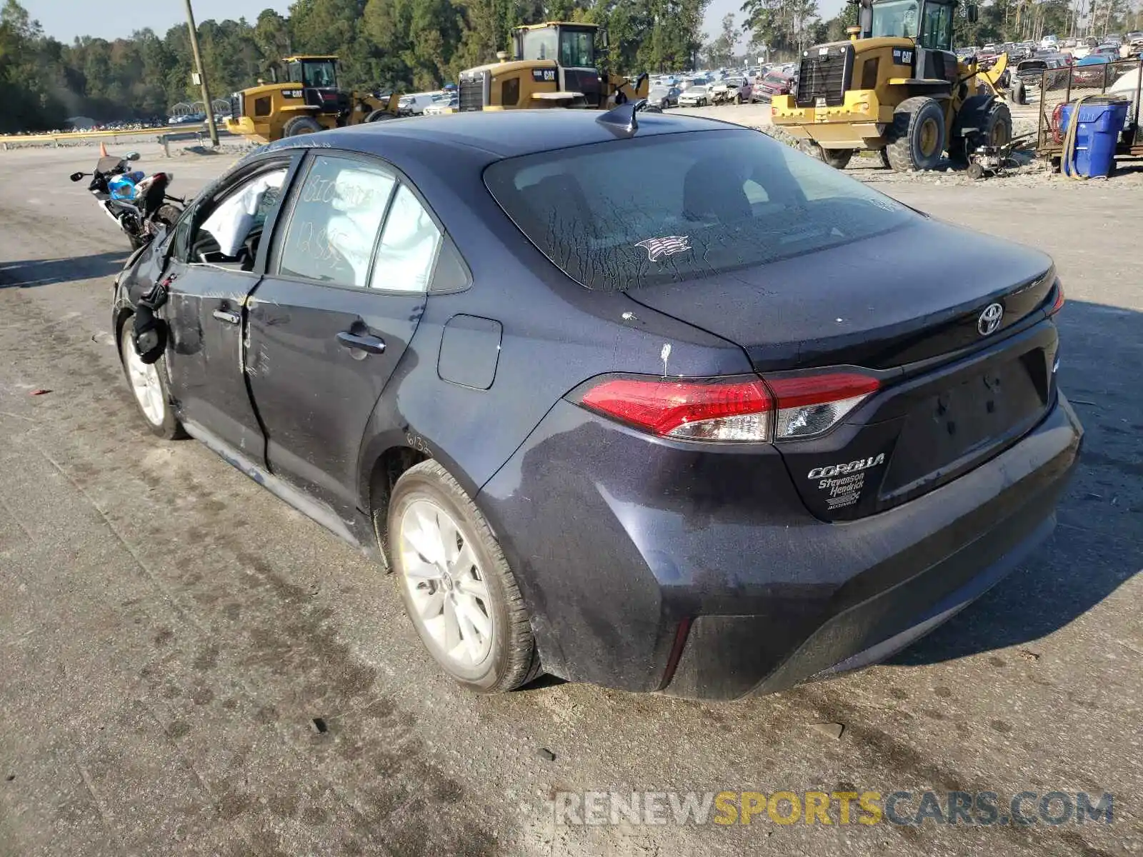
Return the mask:
M 138 152 L 118 158 L 103 150 L 94 171 L 71 174 L 72 182 L 91 179 L 87 189 L 104 214 L 127 235 L 133 250 L 150 242 L 160 227 L 170 229 L 186 205 L 186 200 L 167 194 L 174 174 L 147 176 L 142 170 L 131 170 L 130 162 L 138 158 Z

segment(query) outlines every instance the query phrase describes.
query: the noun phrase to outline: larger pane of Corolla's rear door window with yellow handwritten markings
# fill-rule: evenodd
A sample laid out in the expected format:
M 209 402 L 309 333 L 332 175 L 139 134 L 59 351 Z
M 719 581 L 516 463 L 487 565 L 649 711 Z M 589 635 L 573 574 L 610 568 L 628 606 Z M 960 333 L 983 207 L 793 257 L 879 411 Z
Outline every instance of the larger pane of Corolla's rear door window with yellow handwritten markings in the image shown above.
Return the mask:
M 379 166 L 318 155 L 294 198 L 278 250 L 278 273 L 363 287 L 397 179 Z

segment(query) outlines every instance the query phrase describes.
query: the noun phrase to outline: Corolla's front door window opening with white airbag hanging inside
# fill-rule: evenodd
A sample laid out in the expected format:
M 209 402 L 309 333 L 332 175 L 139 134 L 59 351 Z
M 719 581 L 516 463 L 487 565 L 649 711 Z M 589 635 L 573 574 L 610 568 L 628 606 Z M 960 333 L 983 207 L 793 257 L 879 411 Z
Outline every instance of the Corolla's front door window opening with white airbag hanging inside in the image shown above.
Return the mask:
M 263 230 L 278 205 L 286 173 L 286 167 L 264 170 L 226 192 L 194 232 L 189 261 L 253 271 Z

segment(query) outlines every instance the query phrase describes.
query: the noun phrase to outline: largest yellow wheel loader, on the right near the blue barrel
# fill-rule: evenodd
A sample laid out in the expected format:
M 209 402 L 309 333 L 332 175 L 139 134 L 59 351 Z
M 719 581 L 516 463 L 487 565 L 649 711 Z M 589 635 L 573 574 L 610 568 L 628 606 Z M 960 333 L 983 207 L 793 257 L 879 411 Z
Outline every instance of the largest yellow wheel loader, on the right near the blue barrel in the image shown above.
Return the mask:
M 854 0 L 850 0 L 854 1 Z M 966 161 L 982 145 L 1012 139 L 1012 113 L 998 81 L 952 50 L 957 0 L 857 0 L 849 40 L 802 53 L 797 88 L 775 96 L 772 120 L 804 151 L 844 168 L 874 150 L 897 171 L 933 169 L 948 152 Z M 966 9 L 976 19 L 976 7 Z

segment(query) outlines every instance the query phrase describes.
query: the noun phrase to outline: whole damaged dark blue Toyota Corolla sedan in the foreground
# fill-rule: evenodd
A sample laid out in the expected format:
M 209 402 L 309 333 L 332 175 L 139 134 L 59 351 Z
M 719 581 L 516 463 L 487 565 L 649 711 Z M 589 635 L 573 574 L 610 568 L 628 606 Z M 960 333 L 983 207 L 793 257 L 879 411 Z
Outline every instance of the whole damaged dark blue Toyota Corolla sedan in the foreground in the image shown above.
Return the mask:
M 1052 531 L 1082 434 L 1053 263 L 632 111 L 245 158 L 117 282 L 139 410 L 376 555 L 474 690 L 884 659 Z

